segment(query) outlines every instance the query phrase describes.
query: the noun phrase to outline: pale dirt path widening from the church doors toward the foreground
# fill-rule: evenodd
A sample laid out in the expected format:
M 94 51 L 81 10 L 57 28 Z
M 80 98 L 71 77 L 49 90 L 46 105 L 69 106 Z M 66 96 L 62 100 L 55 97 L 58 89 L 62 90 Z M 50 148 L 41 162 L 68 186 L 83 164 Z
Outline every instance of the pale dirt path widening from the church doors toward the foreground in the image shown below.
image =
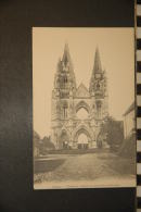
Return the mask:
M 94 179 L 103 174 L 117 175 L 118 173 L 107 167 L 97 154 L 82 154 L 68 157 L 64 164 L 48 174 L 48 179 Z

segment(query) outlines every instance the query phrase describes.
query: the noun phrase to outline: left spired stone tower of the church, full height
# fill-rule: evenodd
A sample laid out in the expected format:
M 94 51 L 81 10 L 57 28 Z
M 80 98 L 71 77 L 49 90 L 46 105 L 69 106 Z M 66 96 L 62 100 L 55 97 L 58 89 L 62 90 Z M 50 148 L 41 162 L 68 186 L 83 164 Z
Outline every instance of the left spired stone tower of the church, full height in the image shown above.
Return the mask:
M 68 140 L 66 125 L 72 128 L 74 119 L 73 97 L 76 92 L 76 79 L 69 54 L 68 45 L 64 47 L 62 60 L 59 60 L 52 91 L 52 140 L 57 148 L 62 148 Z M 62 139 L 62 140 L 61 140 Z

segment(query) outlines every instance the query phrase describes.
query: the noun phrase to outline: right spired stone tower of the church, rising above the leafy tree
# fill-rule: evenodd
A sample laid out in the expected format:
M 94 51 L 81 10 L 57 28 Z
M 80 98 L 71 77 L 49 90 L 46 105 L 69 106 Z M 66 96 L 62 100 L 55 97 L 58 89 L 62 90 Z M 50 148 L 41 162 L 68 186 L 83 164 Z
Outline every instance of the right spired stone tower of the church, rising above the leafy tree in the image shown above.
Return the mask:
M 102 70 L 98 48 L 95 50 L 89 92 L 94 108 L 94 119 L 98 123 L 101 123 L 101 121 L 108 114 L 107 78 L 105 71 Z

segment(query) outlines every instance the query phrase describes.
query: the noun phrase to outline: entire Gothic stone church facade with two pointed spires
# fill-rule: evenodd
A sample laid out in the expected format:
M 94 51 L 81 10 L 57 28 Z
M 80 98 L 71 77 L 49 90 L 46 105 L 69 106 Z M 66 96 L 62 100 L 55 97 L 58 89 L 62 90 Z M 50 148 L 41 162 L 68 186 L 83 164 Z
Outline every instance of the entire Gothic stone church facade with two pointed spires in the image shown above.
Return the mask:
M 76 85 L 68 45 L 65 45 L 54 76 L 51 110 L 51 140 L 56 149 L 98 147 L 100 125 L 108 114 L 107 80 L 98 48 L 89 88 L 86 88 L 84 84 Z

